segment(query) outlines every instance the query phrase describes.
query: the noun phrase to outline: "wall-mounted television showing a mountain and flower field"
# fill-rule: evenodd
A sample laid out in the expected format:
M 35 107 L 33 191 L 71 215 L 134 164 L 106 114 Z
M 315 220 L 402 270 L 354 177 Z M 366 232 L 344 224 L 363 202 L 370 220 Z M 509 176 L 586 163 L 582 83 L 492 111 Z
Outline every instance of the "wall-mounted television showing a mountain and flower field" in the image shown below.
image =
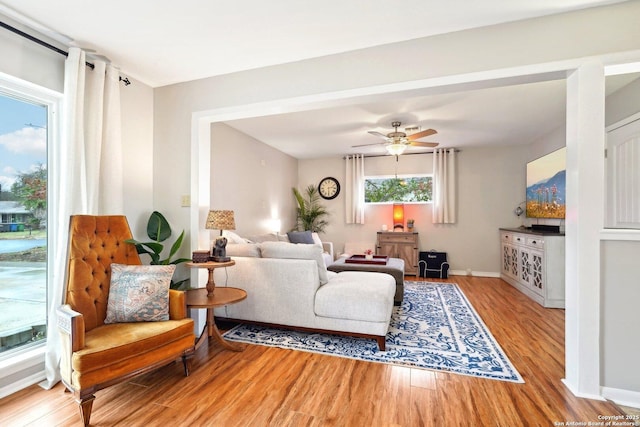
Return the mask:
M 564 219 L 566 153 L 561 148 L 527 163 L 527 218 Z

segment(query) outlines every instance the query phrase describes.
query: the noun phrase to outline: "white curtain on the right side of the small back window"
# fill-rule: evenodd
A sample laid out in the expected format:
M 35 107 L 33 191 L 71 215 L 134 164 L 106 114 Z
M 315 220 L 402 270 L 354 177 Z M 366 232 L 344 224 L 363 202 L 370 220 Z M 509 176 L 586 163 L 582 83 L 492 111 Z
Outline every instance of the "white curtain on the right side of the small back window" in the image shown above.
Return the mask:
M 456 222 L 456 150 L 433 152 L 433 223 Z

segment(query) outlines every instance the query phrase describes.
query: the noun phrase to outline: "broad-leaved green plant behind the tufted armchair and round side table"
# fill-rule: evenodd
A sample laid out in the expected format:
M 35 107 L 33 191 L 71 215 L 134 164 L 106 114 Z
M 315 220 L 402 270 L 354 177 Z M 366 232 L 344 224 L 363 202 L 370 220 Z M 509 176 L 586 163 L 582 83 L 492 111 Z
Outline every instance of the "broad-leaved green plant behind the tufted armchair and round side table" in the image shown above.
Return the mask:
M 138 254 L 146 254 L 151 258 L 151 265 L 168 265 L 168 264 L 181 264 L 183 262 L 191 261 L 189 258 L 176 258 L 171 259 L 182 246 L 182 240 L 184 239 L 184 230 L 180 233 L 178 239 L 173 242 L 169 255 L 166 258 L 162 258 L 162 252 L 164 251 L 164 244 L 171 237 L 172 231 L 169 221 L 158 211 L 153 211 L 147 222 L 147 236 L 152 240 L 151 242 L 139 242 L 135 239 L 127 239 L 127 243 L 135 245 Z M 171 280 L 171 289 L 179 289 L 189 279 L 183 279 L 180 281 Z

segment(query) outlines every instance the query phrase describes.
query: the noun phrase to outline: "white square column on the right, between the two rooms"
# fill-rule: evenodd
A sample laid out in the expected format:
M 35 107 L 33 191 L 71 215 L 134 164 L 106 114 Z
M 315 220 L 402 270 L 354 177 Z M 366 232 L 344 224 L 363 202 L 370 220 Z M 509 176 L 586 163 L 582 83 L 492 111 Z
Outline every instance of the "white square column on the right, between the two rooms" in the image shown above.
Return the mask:
M 604 68 L 567 79 L 567 216 L 564 383 L 600 396 L 600 236 L 604 217 Z

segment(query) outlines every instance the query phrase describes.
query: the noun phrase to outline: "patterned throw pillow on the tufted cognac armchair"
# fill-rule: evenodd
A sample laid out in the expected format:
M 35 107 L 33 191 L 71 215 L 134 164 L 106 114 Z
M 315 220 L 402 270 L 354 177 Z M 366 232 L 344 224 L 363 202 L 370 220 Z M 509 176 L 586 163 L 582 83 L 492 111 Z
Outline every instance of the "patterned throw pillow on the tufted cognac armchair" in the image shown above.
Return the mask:
M 111 264 L 104 323 L 169 320 L 169 285 L 175 265 Z

